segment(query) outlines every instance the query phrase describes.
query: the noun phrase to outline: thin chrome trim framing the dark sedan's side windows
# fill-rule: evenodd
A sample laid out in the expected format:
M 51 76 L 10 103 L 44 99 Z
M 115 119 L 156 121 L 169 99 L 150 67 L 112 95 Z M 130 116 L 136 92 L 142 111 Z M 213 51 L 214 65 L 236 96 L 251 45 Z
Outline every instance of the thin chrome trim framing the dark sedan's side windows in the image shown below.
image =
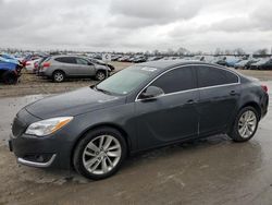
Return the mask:
M 237 76 L 238 79 L 238 82 L 237 83 L 228 83 L 228 84 L 222 84 L 222 85 L 213 85 L 213 86 L 207 86 L 207 87 L 197 87 L 197 88 L 194 88 L 194 89 L 185 89 L 185 91 L 181 91 L 181 92 L 173 92 L 173 93 L 169 93 L 169 94 L 164 94 L 164 95 L 161 95 L 161 96 L 158 96 L 157 98 L 160 98 L 160 97 L 164 97 L 164 96 L 171 96 L 171 95 L 176 95 L 176 94 L 182 94 L 182 93 L 188 93 L 188 92 L 195 92 L 195 91 L 201 91 L 201 89 L 210 89 L 210 88 L 215 88 L 215 87 L 225 87 L 225 86 L 232 86 L 232 85 L 238 85 L 240 84 L 240 76 L 235 73 L 234 71 L 231 71 L 228 69 L 225 69 L 225 68 L 220 68 L 220 67 L 217 67 L 217 65 L 209 65 L 209 64 L 186 64 L 186 65 L 178 65 L 178 67 L 175 67 L 175 68 L 172 68 L 170 70 L 166 70 L 164 72 L 162 72 L 161 74 L 159 74 L 158 76 L 156 76 L 152 81 L 150 81 L 143 89 L 140 89 L 140 92 L 137 94 L 136 98 L 135 98 L 135 101 L 141 101 L 141 100 L 146 100 L 146 99 L 138 99 L 139 95 L 141 94 L 141 92 L 144 92 L 150 84 L 152 84 L 156 80 L 158 80 L 160 76 L 162 76 L 163 74 L 170 72 L 170 71 L 173 71 L 173 70 L 176 70 L 176 69 L 181 69 L 181 68 L 184 68 L 184 67 L 212 67 L 212 68 L 215 68 L 215 69 L 221 69 L 221 70 L 224 70 L 226 72 L 230 72 L 230 73 L 233 73 Z

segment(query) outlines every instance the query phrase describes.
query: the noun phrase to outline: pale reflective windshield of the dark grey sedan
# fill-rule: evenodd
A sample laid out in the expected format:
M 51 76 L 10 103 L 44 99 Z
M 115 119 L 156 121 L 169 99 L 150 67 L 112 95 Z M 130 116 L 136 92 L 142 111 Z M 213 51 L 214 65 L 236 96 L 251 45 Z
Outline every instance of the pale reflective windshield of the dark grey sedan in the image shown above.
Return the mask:
M 96 86 L 96 89 L 116 95 L 126 95 L 151 77 L 158 69 L 150 67 L 131 67 L 118 72 Z

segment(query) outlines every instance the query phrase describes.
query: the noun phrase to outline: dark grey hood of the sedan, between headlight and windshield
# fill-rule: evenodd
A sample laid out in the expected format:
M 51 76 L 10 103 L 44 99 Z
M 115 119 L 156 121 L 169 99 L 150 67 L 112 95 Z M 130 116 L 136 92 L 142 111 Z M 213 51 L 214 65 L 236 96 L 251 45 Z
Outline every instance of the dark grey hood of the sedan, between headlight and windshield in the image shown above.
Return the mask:
M 40 119 L 77 116 L 125 102 L 125 97 L 116 97 L 84 87 L 74 92 L 46 97 L 25 107 Z

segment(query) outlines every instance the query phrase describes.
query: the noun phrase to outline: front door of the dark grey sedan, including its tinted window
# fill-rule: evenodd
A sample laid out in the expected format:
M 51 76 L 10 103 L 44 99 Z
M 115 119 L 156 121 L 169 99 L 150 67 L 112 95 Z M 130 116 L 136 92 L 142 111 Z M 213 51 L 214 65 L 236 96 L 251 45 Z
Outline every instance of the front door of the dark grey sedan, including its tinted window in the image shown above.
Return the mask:
M 191 67 L 166 72 L 150 86 L 164 91 L 156 99 L 136 100 L 138 146 L 150 148 L 182 138 L 196 136 L 199 93 Z

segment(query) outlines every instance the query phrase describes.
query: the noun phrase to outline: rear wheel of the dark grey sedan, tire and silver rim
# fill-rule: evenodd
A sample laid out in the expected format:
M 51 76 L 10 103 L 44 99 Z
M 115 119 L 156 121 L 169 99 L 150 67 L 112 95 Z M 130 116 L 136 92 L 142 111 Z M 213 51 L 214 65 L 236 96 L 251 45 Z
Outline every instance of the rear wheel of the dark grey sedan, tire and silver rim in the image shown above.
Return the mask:
M 254 107 L 242 108 L 228 135 L 234 142 L 249 141 L 258 129 L 259 119 L 259 114 Z

